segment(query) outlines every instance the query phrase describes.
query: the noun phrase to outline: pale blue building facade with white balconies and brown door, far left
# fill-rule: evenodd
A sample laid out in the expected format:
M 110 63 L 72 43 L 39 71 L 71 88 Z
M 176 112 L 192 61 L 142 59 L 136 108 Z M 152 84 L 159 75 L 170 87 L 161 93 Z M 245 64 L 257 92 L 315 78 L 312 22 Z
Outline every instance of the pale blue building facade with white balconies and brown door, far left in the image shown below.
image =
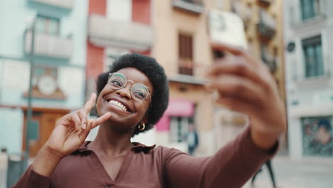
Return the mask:
M 0 147 L 7 152 L 19 154 L 26 148 L 31 68 L 31 157 L 46 142 L 58 118 L 83 106 L 87 2 L 0 2 Z

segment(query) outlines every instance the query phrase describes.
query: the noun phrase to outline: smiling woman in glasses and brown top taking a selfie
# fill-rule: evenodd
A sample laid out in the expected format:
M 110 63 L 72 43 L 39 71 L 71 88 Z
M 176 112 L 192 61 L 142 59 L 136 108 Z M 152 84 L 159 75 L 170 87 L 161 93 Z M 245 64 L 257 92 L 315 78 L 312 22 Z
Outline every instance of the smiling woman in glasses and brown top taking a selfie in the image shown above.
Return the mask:
M 219 45 L 232 56 L 211 68 L 209 90 L 217 102 L 246 113 L 250 126 L 211 157 L 191 157 L 167 147 L 130 142 L 152 128 L 166 110 L 164 70 L 147 56 L 122 56 L 97 80 L 84 108 L 62 117 L 14 187 L 242 187 L 277 150 L 285 132 L 285 110 L 263 63 L 238 48 Z M 88 132 L 100 125 L 93 142 Z

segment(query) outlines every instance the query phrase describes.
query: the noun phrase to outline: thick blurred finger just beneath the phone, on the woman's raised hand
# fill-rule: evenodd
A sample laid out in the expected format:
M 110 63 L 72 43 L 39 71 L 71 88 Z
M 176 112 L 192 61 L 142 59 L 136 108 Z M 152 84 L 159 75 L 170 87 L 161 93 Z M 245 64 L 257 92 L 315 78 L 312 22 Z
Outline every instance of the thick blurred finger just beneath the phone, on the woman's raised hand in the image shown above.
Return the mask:
M 231 59 L 226 58 L 223 63 L 214 65 L 208 71 L 207 75 L 211 77 L 225 74 L 243 75 L 260 85 L 267 85 L 266 81 L 258 72 L 260 72 L 260 70 L 255 70 L 248 63 L 245 63 L 244 58 L 238 58 L 238 61 L 232 61 Z

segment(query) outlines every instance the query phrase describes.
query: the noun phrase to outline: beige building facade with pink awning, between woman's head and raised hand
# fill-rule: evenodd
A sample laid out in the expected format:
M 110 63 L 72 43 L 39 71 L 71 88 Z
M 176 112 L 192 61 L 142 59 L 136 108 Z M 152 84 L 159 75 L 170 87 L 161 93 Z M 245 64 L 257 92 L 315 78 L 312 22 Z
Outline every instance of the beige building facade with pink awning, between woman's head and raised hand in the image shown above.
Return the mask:
M 222 10 L 221 1 L 154 1 L 152 55 L 169 77 L 170 103 L 157 123 L 157 144 L 187 152 L 187 134 L 194 125 L 199 147 L 194 155 L 211 155 L 218 135 L 213 96 L 204 88 L 205 70 L 214 63 L 208 14 Z

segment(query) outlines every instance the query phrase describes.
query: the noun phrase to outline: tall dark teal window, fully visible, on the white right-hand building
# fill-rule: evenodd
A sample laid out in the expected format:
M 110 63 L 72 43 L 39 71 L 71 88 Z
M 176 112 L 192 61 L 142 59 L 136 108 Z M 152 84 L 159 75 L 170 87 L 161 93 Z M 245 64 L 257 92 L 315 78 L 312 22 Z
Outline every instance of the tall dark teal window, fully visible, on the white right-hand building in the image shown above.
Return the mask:
M 305 59 L 305 77 L 311 78 L 324 74 L 322 58 L 322 37 L 314 36 L 302 40 Z

